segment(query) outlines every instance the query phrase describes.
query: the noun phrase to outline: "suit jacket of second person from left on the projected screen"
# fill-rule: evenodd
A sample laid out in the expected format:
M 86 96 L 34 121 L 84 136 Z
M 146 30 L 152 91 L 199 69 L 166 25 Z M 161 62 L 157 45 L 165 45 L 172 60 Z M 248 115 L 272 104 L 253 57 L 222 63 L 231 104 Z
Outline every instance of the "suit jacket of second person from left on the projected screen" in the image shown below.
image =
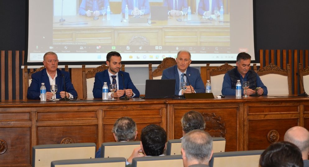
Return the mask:
M 121 12 L 125 14 L 126 12 L 126 5 L 128 5 L 129 8 L 129 15 L 131 15 L 132 10 L 134 9 L 133 0 L 122 0 L 121 5 Z M 141 10 L 141 7 L 145 7 L 145 13 L 144 15 L 148 15 L 150 13 L 150 5 L 148 0 L 137 0 L 138 9 Z

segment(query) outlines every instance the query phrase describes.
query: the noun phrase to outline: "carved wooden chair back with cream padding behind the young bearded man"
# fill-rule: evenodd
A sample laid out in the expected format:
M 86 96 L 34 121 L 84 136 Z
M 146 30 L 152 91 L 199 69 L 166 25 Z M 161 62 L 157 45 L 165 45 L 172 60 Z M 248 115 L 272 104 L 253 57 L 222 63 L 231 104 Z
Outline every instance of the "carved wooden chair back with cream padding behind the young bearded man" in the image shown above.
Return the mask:
M 95 74 L 106 69 L 108 69 L 108 66 L 102 64 L 86 72 L 85 65 L 82 65 L 83 98 L 93 98 L 92 90 L 95 83 Z M 124 64 L 121 65 L 121 70 L 124 71 Z

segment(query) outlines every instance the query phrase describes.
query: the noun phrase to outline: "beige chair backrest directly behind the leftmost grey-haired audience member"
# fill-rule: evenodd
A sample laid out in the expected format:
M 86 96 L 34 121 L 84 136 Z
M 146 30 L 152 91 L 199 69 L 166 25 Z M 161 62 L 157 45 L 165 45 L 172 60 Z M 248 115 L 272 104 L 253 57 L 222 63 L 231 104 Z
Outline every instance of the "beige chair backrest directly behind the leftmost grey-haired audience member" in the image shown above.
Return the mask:
M 140 145 L 140 141 L 105 142 L 101 145 L 101 157 L 129 157 L 132 154 L 133 149 Z

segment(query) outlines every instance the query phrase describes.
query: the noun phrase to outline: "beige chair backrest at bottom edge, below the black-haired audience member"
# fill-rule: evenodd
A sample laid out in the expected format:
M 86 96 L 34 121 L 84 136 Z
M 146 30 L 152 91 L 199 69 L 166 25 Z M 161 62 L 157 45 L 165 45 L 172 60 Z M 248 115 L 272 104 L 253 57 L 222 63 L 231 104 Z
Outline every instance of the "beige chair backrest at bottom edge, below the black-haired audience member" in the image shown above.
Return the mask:
M 133 158 L 132 167 L 183 166 L 182 155 L 177 156 L 145 156 Z

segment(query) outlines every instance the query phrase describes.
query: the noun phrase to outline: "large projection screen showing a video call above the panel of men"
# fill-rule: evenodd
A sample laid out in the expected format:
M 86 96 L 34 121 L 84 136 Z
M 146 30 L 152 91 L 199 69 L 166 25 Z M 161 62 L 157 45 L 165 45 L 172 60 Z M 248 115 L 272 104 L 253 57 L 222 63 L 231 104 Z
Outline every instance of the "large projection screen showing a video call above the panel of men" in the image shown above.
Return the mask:
M 31 1 L 39 0 L 29 0 L 29 8 Z M 244 16 L 230 0 L 53 0 L 51 5 L 53 15 L 46 15 L 53 19 L 44 21 L 52 26 L 39 33 L 49 38 L 30 41 L 29 27 L 30 62 L 41 61 L 46 50 L 61 61 L 105 61 L 113 50 L 122 61 L 161 61 L 183 49 L 198 61 L 234 61 L 239 51 L 254 53 L 253 24 L 235 24 Z

